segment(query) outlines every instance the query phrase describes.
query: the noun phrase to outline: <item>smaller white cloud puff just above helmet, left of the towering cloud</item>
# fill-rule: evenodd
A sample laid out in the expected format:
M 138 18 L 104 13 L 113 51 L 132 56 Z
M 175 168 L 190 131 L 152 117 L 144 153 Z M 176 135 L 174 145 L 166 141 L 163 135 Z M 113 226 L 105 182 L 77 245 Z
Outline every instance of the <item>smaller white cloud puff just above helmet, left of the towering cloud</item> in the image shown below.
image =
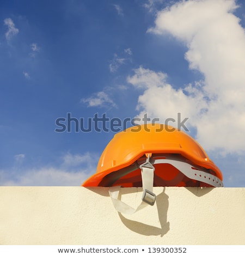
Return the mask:
M 160 121 L 164 123 L 167 118 L 177 120 L 177 113 L 181 113 L 183 118 L 190 117 L 190 115 L 193 118 L 197 113 L 197 108 L 199 109 L 198 113 L 201 112 L 201 109 L 205 109 L 206 104 L 201 102 L 203 95 L 199 90 L 195 92 L 186 87 L 186 90 L 190 92 L 192 90 L 192 94 L 195 95 L 195 97 L 188 97 L 183 89 L 176 90 L 168 84 L 166 82 L 167 75 L 162 72 L 142 67 L 134 72 L 133 76 L 127 78 L 128 83 L 133 84 L 136 88 L 144 89 L 144 93 L 138 99 L 139 118 L 142 118 L 147 112 L 148 117 L 160 118 Z

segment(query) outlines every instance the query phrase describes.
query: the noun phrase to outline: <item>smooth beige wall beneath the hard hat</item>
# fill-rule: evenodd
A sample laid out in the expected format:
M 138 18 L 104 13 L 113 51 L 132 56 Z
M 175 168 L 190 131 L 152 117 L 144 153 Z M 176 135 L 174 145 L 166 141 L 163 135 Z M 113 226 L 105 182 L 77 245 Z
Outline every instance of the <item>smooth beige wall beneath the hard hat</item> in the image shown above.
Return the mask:
M 245 245 L 245 188 L 155 187 L 134 215 L 108 188 L 0 187 L 1 245 Z M 121 188 L 137 206 L 142 188 Z

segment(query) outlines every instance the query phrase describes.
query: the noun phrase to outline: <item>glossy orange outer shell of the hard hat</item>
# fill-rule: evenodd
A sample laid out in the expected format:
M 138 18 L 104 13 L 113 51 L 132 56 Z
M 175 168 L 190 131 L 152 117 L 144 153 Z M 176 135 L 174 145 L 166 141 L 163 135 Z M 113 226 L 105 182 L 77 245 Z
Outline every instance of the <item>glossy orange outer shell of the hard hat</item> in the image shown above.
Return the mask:
M 131 166 L 131 164 L 147 154 L 156 156 L 159 154 L 179 154 L 195 166 L 209 170 L 210 173 L 223 180 L 221 170 L 209 159 L 203 148 L 187 133 L 169 125 L 145 124 L 132 126 L 115 134 L 100 157 L 96 173 L 85 181 L 82 186 L 101 186 L 101 181 L 108 174 Z M 163 169 L 163 164 L 159 164 L 159 166 Z M 164 174 L 164 179 L 170 180 L 174 178 L 173 175 L 176 170 L 169 164 L 167 166 L 167 172 L 165 171 L 166 168 L 164 170 L 167 173 Z M 166 167 L 166 164 L 164 167 Z M 161 170 L 157 173 L 160 173 L 159 176 L 163 176 Z M 113 186 L 119 184 L 131 186 L 132 184 L 128 180 L 139 174 L 139 170 L 137 174 L 130 173 L 126 175 L 124 181 L 115 182 Z M 177 184 L 177 186 L 185 185 L 187 185 L 186 182 Z M 190 186 L 195 185 L 192 184 Z

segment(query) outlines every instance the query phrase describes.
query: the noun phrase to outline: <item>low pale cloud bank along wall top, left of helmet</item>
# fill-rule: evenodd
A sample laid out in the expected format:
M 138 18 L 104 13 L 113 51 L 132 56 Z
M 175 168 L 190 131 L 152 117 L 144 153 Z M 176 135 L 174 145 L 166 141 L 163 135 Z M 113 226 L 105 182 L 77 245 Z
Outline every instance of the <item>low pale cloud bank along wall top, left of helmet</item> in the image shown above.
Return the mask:
M 15 159 L 23 159 L 16 155 Z M 1 186 L 80 186 L 85 179 L 96 172 L 97 156 L 85 153 L 62 157 L 58 167 L 39 167 L 20 170 L 0 170 Z

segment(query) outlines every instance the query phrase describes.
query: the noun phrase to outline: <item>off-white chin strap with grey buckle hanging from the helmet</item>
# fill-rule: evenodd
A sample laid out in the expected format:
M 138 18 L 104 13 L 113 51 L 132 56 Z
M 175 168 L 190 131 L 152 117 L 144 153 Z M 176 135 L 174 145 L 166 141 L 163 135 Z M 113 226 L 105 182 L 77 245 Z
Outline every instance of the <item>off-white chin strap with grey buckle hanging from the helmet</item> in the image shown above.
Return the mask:
M 141 169 L 142 176 L 143 196 L 142 202 L 136 209 L 132 208 L 130 205 L 127 205 L 126 203 L 118 199 L 120 186 L 109 188 L 109 194 L 111 196 L 114 208 L 118 212 L 121 212 L 122 214 L 134 214 L 134 212 L 137 212 L 145 208 L 145 206 L 149 204 L 154 205 L 156 195 L 152 191 L 155 167 L 152 166 L 152 164 L 150 163 L 150 156 L 151 154 L 148 154 L 146 162 L 139 166 L 139 168 Z

